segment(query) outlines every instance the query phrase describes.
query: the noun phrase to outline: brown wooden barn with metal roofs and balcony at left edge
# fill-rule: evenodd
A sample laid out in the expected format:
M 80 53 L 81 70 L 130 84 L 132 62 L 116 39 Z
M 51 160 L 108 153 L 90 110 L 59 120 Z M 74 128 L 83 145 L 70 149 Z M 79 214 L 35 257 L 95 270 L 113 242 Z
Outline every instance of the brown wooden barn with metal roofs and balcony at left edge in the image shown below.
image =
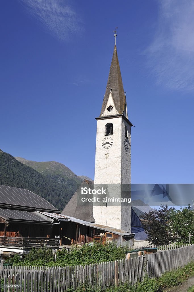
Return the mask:
M 38 211 L 60 213 L 29 190 L 0 185 L 0 253 L 31 246 L 59 246 L 53 236 L 54 220 Z

